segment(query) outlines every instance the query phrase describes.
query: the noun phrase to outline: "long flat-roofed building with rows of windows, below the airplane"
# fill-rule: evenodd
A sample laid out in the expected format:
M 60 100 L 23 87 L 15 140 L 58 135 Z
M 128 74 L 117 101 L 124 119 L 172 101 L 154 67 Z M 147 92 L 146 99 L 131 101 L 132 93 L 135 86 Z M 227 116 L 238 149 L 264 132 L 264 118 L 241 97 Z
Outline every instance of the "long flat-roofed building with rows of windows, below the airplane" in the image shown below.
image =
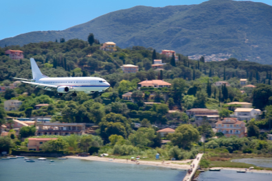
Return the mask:
M 37 135 L 71 135 L 82 134 L 86 123 L 38 123 Z

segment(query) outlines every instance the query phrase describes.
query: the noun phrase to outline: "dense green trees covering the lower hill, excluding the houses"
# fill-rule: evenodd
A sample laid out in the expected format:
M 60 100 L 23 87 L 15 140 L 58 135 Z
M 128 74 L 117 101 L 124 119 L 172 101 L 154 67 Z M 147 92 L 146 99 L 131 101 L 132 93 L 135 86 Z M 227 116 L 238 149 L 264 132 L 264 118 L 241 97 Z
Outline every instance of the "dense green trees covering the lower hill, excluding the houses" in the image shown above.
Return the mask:
M 96 43 L 95 43 L 96 42 Z M 49 77 L 60 76 L 98 76 L 104 77 L 111 88 L 102 96 L 94 93 L 86 95 L 78 93 L 71 97 L 67 93 L 57 97 L 56 93 L 21 84 L 15 89 L 1 93 L 0 121 L 4 123 L 5 114 L 10 117 L 31 117 L 49 115 L 52 121 L 69 123 L 95 123 L 98 125 L 98 136 L 61 137 L 52 144 L 46 144 L 44 151 L 70 150 L 75 152 L 109 153 L 120 156 L 149 155 L 157 152 L 165 158 L 193 158 L 199 152 L 202 144 L 199 136 L 212 138 L 212 131 L 207 121 L 196 128 L 189 123 L 194 119 L 185 114 L 190 108 L 209 108 L 219 110 L 220 117 L 229 117 L 225 103 L 229 101 L 249 101 L 253 106 L 267 110 L 258 119 L 247 123 L 250 138 L 218 138 L 207 140 L 207 147 L 222 149 L 224 152 L 271 153 L 271 143 L 266 134 L 270 132 L 269 121 L 272 117 L 272 66 L 254 62 L 238 61 L 230 58 L 225 62 L 209 62 L 189 60 L 178 54 L 179 62 L 172 64 L 171 58 L 161 56 L 153 49 L 135 46 L 128 49 L 118 48 L 117 52 L 101 51 L 98 40 L 91 41 L 92 45 L 83 40 L 68 40 L 63 43 L 31 43 L 23 47 L 5 47 L 0 49 L 0 81 L 4 86 L 9 85 L 12 77 L 32 78 L 29 58 L 35 58 L 43 74 Z M 11 60 L 3 55 L 5 49 L 21 49 L 25 59 Z M 163 71 L 151 69 L 152 58 L 162 59 L 167 64 Z M 139 72 L 122 73 L 122 64 L 137 64 Z M 170 82 L 170 88 L 137 88 L 142 80 L 161 79 Z M 247 78 L 249 84 L 257 88 L 242 88 L 240 78 Z M 225 80 L 231 86 L 214 86 L 214 82 Z M 242 94 L 240 90 L 245 90 Z M 133 101 L 125 101 L 122 95 L 133 92 Z M 144 97 L 143 97 L 144 93 Z M 17 111 L 3 110 L 5 99 L 19 99 L 23 104 Z M 161 104 L 153 106 L 144 102 L 154 101 Z M 39 110 L 34 110 L 36 104 L 49 104 Z M 179 110 L 168 114 L 168 110 Z M 139 127 L 135 123 L 141 123 Z M 8 122 L 12 124 L 12 122 Z M 161 136 L 156 132 L 155 125 L 179 125 L 174 134 Z M 33 136 L 35 128 L 24 128 L 21 136 Z M 266 130 L 260 133 L 260 129 Z M 3 147 L 20 147 L 25 149 L 13 131 L 8 138 L 1 138 Z M 12 136 L 13 134 L 13 136 Z M 217 135 L 223 136 L 223 135 Z M 69 141 L 69 138 L 73 139 Z M 161 139 L 171 142 L 161 147 Z M 55 143 L 57 142 L 57 143 Z M 89 145 L 82 146 L 83 143 Z M 235 145 L 235 144 L 236 145 Z M 21 146 L 20 146 L 21 145 Z M 53 147 L 53 145 L 62 145 Z M 73 145 L 73 146 L 72 146 Z M 93 147 L 93 148 L 92 148 Z M 158 148 L 160 147 L 160 148 Z M 91 149 L 92 151 L 89 151 Z M 95 150 L 95 151 L 93 151 Z M 151 158 L 151 157 L 150 157 Z

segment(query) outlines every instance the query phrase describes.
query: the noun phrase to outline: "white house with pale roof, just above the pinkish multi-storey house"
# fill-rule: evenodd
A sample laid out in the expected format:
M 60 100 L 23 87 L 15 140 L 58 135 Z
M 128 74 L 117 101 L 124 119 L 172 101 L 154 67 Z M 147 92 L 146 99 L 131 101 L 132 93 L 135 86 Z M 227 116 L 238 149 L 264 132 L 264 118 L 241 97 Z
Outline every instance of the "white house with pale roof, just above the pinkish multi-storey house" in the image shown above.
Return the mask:
M 236 108 L 236 110 L 234 110 L 234 114 L 232 114 L 231 117 L 236 117 L 239 121 L 249 121 L 253 118 L 257 118 L 261 113 L 262 111 L 259 109 Z

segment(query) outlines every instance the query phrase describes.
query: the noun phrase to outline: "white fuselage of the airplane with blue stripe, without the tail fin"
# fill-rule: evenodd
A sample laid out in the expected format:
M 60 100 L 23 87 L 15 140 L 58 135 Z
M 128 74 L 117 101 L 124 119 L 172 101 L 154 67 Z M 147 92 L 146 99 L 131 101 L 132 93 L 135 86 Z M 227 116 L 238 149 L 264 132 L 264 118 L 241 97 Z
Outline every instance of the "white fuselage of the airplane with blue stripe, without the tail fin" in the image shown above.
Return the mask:
M 106 90 L 110 86 L 106 80 L 100 77 L 47 77 L 36 80 L 35 83 L 59 86 L 57 89 L 58 93 L 73 91 L 82 91 L 85 93 L 94 91 L 102 92 L 102 90 Z M 69 88 L 69 90 L 65 91 L 65 88 Z M 50 88 L 47 89 L 50 90 Z

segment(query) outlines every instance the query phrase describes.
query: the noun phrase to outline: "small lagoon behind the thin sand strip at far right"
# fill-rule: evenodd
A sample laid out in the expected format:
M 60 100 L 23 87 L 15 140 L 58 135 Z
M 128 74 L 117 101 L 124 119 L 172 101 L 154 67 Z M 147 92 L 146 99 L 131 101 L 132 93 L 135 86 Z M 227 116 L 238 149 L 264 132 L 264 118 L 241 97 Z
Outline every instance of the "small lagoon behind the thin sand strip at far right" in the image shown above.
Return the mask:
M 272 158 L 242 158 L 242 159 L 232 160 L 232 162 L 245 162 L 245 163 L 256 165 L 258 167 L 272 168 Z

